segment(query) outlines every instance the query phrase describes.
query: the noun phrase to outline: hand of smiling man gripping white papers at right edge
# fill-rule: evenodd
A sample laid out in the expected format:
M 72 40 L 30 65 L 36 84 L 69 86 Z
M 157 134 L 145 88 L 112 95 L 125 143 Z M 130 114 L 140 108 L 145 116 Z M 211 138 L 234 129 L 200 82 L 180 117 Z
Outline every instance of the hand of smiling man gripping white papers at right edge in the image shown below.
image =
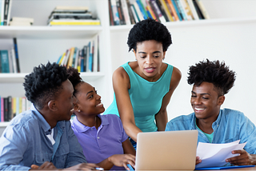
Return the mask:
M 233 150 L 232 153 L 239 153 L 239 156 L 230 157 L 226 162 L 234 165 L 255 165 L 256 157 L 254 154 L 247 153 L 246 150 Z

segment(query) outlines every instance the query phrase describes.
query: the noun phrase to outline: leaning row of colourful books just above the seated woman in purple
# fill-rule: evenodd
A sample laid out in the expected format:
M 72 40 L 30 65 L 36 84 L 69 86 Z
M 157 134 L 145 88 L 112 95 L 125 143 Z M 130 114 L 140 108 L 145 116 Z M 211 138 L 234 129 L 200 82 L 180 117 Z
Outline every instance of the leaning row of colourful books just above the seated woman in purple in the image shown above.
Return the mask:
M 57 63 L 62 66 L 73 67 L 78 72 L 99 72 L 99 38 L 95 36 L 82 48 L 71 47 L 58 58 Z

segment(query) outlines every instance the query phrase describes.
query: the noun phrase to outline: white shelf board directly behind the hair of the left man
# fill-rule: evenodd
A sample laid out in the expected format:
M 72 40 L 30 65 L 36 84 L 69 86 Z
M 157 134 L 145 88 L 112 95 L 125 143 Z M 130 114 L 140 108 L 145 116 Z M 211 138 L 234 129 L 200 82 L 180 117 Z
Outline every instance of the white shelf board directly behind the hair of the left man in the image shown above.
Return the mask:
M 0 83 L 22 83 L 28 73 L 22 74 L 0 74 Z M 105 76 L 102 72 L 81 73 L 80 76 L 86 81 L 94 81 Z

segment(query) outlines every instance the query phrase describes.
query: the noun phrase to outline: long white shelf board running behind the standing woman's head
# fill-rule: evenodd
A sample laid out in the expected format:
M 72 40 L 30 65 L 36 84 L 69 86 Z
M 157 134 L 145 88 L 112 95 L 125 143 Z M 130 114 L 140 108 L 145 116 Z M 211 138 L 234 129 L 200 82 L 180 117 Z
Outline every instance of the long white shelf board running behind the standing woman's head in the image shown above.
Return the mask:
M 223 24 L 234 24 L 234 23 L 245 23 L 245 22 L 256 22 L 256 17 L 253 18 L 217 18 L 208 20 L 193 20 L 193 21 L 182 21 L 182 22 L 165 22 L 163 23 L 168 27 L 184 27 L 184 26 L 212 26 L 212 25 L 223 25 Z M 110 26 L 110 31 L 127 31 L 130 30 L 134 25 L 123 25 L 123 26 Z

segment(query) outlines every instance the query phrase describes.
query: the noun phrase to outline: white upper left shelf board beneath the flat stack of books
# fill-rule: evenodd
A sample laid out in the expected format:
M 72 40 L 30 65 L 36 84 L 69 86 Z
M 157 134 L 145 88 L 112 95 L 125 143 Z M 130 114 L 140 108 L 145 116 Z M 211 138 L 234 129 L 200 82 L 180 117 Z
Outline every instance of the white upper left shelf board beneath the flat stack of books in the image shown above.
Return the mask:
M 90 38 L 102 26 L 0 26 L 0 38 Z

